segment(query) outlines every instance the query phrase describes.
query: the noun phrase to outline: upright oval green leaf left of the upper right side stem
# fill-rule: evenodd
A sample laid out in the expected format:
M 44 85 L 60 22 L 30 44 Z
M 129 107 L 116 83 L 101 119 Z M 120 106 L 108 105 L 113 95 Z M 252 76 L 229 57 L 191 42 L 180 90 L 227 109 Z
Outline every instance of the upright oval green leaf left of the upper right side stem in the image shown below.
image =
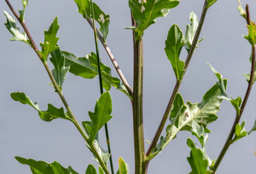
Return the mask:
M 165 41 L 165 53 L 172 64 L 177 80 L 182 80 L 184 62 L 180 61 L 180 50 L 184 45 L 183 34 L 177 25 L 172 25 Z

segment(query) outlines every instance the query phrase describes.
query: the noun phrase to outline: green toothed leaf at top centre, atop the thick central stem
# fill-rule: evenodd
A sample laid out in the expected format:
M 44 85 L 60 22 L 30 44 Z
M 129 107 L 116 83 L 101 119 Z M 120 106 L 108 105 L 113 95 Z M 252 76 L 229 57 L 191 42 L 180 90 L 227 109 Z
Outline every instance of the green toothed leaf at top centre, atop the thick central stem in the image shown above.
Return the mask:
M 140 40 L 143 31 L 154 24 L 157 17 L 165 17 L 169 10 L 178 4 L 179 1 L 176 0 L 143 0 L 141 3 L 137 0 L 129 0 L 132 17 L 138 25 L 137 29 L 134 30 L 136 40 Z

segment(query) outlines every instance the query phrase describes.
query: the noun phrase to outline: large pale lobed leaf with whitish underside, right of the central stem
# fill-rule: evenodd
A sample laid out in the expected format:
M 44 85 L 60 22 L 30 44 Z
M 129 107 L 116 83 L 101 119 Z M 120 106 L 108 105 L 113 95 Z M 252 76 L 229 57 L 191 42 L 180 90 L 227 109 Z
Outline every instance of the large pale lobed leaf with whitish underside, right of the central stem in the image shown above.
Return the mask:
M 224 84 L 226 87 L 227 80 L 224 80 Z M 199 136 L 202 133 L 210 133 L 207 125 L 218 118 L 215 113 L 220 110 L 219 106 L 223 100 L 221 97 L 222 93 L 217 84 L 204 94 L 201 103 L 192 104 L 188 101 L 185 105 L 182 96 L 178 93 L 170 113 L 171 124 L 166 127 L 166 136 L 161 137 L 149 158 L 159 154 L 179 131 L 191 131 Z

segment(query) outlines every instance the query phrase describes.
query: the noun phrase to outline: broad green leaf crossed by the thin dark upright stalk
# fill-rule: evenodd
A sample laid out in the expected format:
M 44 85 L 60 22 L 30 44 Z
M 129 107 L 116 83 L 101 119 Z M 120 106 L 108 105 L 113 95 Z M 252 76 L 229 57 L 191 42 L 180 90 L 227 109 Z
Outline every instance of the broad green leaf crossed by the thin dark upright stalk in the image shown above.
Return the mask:
M 95 78 L 95 76 L 99 74 L 97 55 L 93 52 L 91 55 L 86 55 L 86 57 L 76 57 L 76 55 L 68 52 L 62 53 L 65 57 L 65 66 L 70 66 L 70 73 L 89 79 Z M 124 92 L 124 94 L 131 98 L 124 85 L 120 83 L 120 80 L 111 75 L 111 69 L 108 66 L 100 62 L 100 69 L 102 71 L 103 87 L 106 91 L 109 91 L 111 89 L 111 85 L 113 85 L 113 87 Z

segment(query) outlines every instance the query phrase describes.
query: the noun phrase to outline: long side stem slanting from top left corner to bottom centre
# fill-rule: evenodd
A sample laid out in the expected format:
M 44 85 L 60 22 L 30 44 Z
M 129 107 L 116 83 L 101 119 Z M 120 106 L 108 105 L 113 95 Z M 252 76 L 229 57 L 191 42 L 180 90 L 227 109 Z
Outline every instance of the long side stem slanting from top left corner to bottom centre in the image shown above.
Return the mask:
M 104 170 L 105 173 L 109 174 L 108 168 L 106 167 L 106 165 L 104 164 L 104 162 L 102 161 L 101 157 L 99 156 L 97 150 L 95 149 L 95 147 L 93 146 L 92 143 L 90 143 L 90 141 L 88 140 L 88 136 L 86 136 L 86 134 L 84 133 L 82 127 L 79 125 L 79 122 L 77 122 L 76 117 L 74 116 L 74 114 L 72 113 L 70 107 L 68 106 L 68 103 L 65 99 L 65 97 L 63 96 L 63 93 L 60 91 L 60 88 L 58 87 L 58 84 L 56 83 L 56 80 L 54 79 L 54 76 L 52 75 L 51 69 L 49 68 L 47 62 L 44 62 L 42 60 L 42 56 L 40 54 L 38 54 L 39 50 L 35 45 L 35 42 L 33 40 L 33 38 L 31 37 L 31 34 L 28 31 L 28 27 L 26 27 L 26 24 L 20 20 L 19 15 L 17 15 L 16 11 L 13 9 L 12 5 L 10 4 L 10 2 L 8 0 L 5 0 L 6 4 L 8 4 L 10 10 L 12 11 L 13 15 L 15 15 L 15 17 L 17 18 L 17 20 L 19 20 L 20 24 L 22 25 L 24 31 L 26 32 L 29 41 L 31 42 L 31 47 L 33 48 L 33 50 L 35 50 L 36 55 L 38 55 L 39 59 L 43 62 L 44 67 L 47 71 L 47 74 L 49 75 L 52 84 L 54 85 L 54 88 L 56 89 L 56 92 L 59 94 L 61 101 L 63 102 L 63 104 L 65 105 L 65 108 L 67 108 L 67 112 L 68 115 L 71 117 L 73 124 L 77 127 L 79 133 L 83 136 L 84 140 L 86 141 L 86 143 L 88 143 L 88 145 L 90 146 L 90 149 L 93 152 L 93 155 L 98 159 L 100 166 L 102 166 L 102 169 Z

